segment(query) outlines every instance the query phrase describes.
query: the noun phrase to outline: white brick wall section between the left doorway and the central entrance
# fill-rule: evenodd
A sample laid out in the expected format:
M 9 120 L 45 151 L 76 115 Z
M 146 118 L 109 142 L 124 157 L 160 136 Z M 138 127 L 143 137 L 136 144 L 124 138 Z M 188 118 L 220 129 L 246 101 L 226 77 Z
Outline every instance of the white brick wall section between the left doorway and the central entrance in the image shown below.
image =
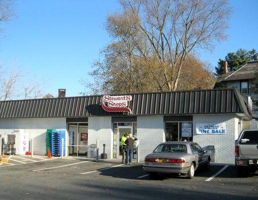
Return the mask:
M 99 139 L 99 156 L 103 153 L 103 144 L 106 144 L 107 158 L 112 158 L 113 131 L 111 116 L 88 117 L 88 156 L 91 156 L 90 145 Z

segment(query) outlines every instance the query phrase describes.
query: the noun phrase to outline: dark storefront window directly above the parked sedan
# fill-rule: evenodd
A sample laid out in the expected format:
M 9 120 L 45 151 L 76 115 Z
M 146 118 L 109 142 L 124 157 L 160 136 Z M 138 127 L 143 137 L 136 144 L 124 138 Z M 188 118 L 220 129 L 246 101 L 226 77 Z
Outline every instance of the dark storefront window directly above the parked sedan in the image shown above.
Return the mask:
M 166 122 L 166 141 L 192 141 L 192 122 Z

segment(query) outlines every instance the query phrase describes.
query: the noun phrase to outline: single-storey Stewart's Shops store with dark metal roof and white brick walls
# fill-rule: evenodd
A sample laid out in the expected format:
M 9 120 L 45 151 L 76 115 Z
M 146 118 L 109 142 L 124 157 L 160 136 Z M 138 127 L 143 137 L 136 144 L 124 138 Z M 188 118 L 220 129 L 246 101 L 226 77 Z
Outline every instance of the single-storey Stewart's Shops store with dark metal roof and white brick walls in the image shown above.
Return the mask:
M 211 149 L 211 161 L 234 163 L 234 141 L 251 128 L 250 113 L 236 89 L 8 100 L 0 101 L 0 135 L 2 151 L 9 138 L 22 143 L 19 136 L 33 138 L 34 154 L 45 155 L 57 130 L 65 132 L 65 155 L 96 157 L 98 139 L 99 154 L 106 144 L 107 158 L 120 159 L 120 138 L 130 132 L 140 141 L 140 160 L 161 142 L 186 139 Z

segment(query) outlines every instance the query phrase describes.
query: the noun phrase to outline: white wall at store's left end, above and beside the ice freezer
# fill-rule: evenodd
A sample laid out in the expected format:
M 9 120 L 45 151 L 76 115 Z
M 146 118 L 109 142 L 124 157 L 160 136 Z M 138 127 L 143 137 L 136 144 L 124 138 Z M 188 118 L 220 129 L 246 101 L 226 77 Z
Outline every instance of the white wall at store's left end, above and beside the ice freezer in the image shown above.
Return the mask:
M 47 129 L 66 129 L 66 118 L 17 118 L 0 120 L 0 134 L 11 133 L 14 129 L 24 129 L 24 132 L 29 133 L 29 138 L 34 138 L 34 154 L 45 155 Z

